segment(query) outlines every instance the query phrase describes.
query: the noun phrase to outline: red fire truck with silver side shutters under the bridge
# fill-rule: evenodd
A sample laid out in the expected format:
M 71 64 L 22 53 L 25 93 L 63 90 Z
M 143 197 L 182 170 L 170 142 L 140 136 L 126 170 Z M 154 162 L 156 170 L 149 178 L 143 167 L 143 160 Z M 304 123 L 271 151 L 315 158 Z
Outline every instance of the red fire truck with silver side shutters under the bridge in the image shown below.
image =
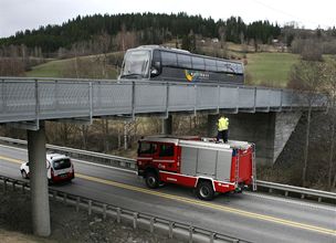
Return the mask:
M 176 183 L 196 188 L 198 198 L 212 200 L 216 192 L 255 190 L 254 158 L 254 145 L 246 141 L 156 136 L 139 140 L 137 166 L 148 188 Z

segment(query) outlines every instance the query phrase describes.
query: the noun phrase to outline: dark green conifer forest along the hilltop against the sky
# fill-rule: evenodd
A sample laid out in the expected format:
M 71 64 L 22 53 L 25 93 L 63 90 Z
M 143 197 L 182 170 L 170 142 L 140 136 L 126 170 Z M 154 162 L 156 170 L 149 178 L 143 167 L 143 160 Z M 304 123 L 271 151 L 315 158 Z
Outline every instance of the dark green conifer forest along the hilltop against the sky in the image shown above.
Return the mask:
M 234 43 L 258 40 L 270 43 L 281 34 L 281 28 L 269 21 L 244 23 L 240 17 L 214 21 L 201 15 L 129 13 L 94 14 L 74 18 L 62 25 L 45 25 L 38 30 L 18 31 L 15 35 L 0 39 L 0 46 L 25 45 L 41 47 L 43 53 L 54 53 L 60 49 L 71 49 L 77 42 L 91 41 L 102 34 L 117 35 L 133 32 L 139 44 L 161 44 L 171 39 L 182 39 L 193 32 L 203 38 L 219 38 Z M 116 46 L 113 46 L 117 51 Z

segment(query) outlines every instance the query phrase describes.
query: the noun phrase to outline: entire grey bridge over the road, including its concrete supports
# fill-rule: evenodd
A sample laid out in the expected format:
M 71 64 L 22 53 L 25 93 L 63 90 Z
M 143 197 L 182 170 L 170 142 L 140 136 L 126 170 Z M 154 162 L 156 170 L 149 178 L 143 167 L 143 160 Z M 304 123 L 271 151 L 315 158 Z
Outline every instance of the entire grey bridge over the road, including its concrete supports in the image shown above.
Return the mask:
M 50 234 L 44 120 L 91 124 L 99 117 L 159 115 L 166 118 L 162 127 L 169 134 L 171 114 L 207 113 L 210 128 L 216 127 L 220 113 L 237 114 L 230 116 L 231 124 L 233 120 L 240 128 L 232 129 L 231 136 L 256 139 L 258 159 L 270 162 L 288 139 L 284 131 L 291 134 L 301 113 L 312 106 L 325 109 L 327 104 L 321 94 L 288 89 L 157 81 L 0 77 L 0 125 L 28 130 L 33 230 L 38 235 Z

